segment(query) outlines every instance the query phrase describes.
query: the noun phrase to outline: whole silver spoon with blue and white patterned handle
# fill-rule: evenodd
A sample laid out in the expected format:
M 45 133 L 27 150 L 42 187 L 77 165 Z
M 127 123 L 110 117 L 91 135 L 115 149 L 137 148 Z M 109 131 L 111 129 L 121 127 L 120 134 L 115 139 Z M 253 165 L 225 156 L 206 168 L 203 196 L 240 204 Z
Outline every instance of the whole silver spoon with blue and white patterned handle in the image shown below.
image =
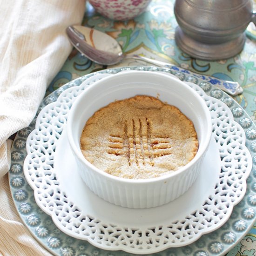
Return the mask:
M 67 36 L 71 44 L 83 55 L 91 61 L 101 65 L 114 65 L 121 62 L 124 58 L 146 61 L 158 67 L 167 67 L 175 69 L 175 65 L 163 61 L 156 61 L 143 57 L 137 54 L 126 55 L 123 54 L 119 43 L 101 31 L 84 27 L 84 26 L 69 26 L 66 29 Z M 176 67 L 177 68 L 177 67 Z M 185 70 L 185 68 L 182 68 Z M 209 78 L 218 81 L 215 86 L 222 89 L 230 95 L 237 95 L 243 93 L 243 88 L 238 82 L 225 81 L 217 79 L 216 77 L 201 75 L 190 71 L 190 74 L 196 77 Z

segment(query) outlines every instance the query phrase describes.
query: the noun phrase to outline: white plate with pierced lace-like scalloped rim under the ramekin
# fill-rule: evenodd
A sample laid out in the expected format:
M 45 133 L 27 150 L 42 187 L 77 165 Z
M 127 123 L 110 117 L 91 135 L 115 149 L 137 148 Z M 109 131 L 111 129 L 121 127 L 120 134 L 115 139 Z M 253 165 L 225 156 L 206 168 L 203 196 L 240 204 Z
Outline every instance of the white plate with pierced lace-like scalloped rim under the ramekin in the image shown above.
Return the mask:
M 38 115 L 23 168 L 39 207 L 69 236 L 138 254 L 184 246 L 218 229 L 245 194 L 252 159 L 229 108 L 195 84 L 189 83 L 208 105 L 213 132 L 204 168 L 184 195 L 157 208 L 127 209 L 103 201 L 81 182 L 66 138 L 68 112 L 84 88 L 107 75 L 114 74 L 94 75 L 65 90 Z

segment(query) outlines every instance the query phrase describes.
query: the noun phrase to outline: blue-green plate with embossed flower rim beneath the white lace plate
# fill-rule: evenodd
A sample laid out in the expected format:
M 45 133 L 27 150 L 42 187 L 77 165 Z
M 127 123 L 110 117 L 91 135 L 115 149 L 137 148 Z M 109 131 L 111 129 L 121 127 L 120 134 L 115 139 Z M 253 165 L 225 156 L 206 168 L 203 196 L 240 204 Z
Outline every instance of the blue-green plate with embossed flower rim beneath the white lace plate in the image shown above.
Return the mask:
M 190 75 L 189 73 L 184 73 L 180 70 L 158 67 L 119 67 L 88 74 L 75 79 L 74 81 L 68 82 L 47 96 L 41 102 L 37 115 L 39 114 L 40 110 L 47 104 L 56 101 L 61 92 L 67 88 L 79 86 L 81 82 L 95 74 L 116 74 L 123 70 L 169 72 L 177 76 L 182 81 L 190 81 L 198 84 L 206 92 L 207 95 L 223 101 L 230 108 L 235 121 L 243 127 L 246 134 L 246 146 L 249 149 L 253 159 L 253 168 L 249 178 L 247 179 L 246 195 L 244 196 L 243 200 L 235 206 L 229 221 L 227 221 L 220 229 L 202 236 L 195 243 L 181 248 L 166 249 L 160 253 L 157 253 L 156 255 L 174 256 L 185 254 L 207 256 L 212 254 L 221 255 L 227 253 L 233 246 L 236 245 L 236 243 L 241 240 L 241 238 L 243 238 L 243 236 L 247 234 L 251 226 L 254 224 L 254 221 L 256 220 L 256 126 L 249 118 L 249 115 L 243 110 L 243 108 L 231 97 L 229 97 L 229 95 L 225 94 L 210 83 Z M 29 127 L 24 128 L 17 133 L 17 136 L 13 141 L 13 147 L 11 151 L 12 162 L 9 171 L 10 188 L 13 201 L 21 219 L 27 225 L 27 228 L 39 241 L 39 243 L 41 243 L 46 249 L 55 255 L 130 255 L 126 252 L 105 251 L 98 249 L 90 245 L 88 242 L 67 236 L 59 229 L 56 229 L 51 217 L 45 214 L 35 203 L 34 191 L 30 188 L 23 175 L 23 161 L 27 154 L 25 149 L 27 135 L 29 135 L 30 132 L 34 129 L 37 115 Z

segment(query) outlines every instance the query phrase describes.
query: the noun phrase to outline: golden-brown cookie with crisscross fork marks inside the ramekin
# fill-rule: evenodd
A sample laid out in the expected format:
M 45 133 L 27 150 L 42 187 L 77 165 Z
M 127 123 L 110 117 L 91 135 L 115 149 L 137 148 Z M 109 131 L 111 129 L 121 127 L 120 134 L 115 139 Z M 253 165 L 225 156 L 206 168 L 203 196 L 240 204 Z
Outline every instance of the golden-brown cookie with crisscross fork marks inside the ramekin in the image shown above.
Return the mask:
M 128 179 L 173 172 L 190 162 L 197 149 L 193 123 L 178 108 L 145 95 L 99 109 L 81 135 L 89 162 Z

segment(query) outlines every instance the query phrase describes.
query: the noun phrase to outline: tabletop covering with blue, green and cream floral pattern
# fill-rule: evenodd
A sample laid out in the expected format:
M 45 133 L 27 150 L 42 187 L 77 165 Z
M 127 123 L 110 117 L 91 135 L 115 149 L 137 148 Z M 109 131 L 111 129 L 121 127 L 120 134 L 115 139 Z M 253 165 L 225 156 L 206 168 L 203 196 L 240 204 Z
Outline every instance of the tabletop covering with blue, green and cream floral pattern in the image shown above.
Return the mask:
M 142 54 L 156 60 L 167 61 L 200 74 L 238 81 L 243 94 L 233 97 L 256 122 L 256 28 L 250 24 L 247 39 L 241 54 L 228 60 L 200 61 L 189 57 L 176 46 L 174 31 L 177 26 L 174 12 L 174 0 L 152 0 L 148 9 L 134 20 L 113 21 L 95 13 L 87 4 L 83 25 L 94 27 L 114 37 L 126 54 Z M 121 66 L 148 65 L 145 62 L 126 60 Z M 61 71 L 51 82 L 47 95 L 68 81 L 95 71 L 108 68 L 88 60 L 73 50 Z M 249 233 L 229 251 L 228 256 L 256 255 L 256 223 Z

